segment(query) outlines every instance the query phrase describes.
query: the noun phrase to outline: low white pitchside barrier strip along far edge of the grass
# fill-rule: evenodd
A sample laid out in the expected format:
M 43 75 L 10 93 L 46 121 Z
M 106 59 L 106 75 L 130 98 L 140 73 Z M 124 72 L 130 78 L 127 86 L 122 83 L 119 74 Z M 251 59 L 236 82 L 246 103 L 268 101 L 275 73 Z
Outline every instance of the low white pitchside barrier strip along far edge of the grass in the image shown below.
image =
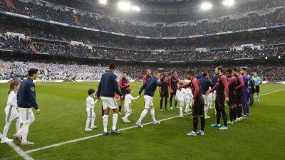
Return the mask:
M 12 80 L 12 79 L 11 79 Z M 11 80 L 0 80 L 0 83 L 6 83 L 11 82 Z M 100 82 L 100 80 L 33 80 L 33 82 L 36 83 L 49 83 L 49 82 Z M 142 80 L 130 80 L 130 82 L 142 82 Z M 181 82 L 189 82 L 189 80 L 181 80 Z M 263 81 L 263 84 L 284 84 L 285 81 L 276 81 L 276 82 L 270 82 L 270 81 Z

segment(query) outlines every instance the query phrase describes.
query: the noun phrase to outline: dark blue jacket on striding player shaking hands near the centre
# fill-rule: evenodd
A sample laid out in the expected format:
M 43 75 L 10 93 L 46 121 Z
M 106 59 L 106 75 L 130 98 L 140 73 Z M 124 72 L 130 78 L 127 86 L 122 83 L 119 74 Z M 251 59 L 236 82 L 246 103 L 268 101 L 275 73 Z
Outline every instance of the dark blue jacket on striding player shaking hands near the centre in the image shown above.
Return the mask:
M 160 87 L 162 82 L 158 82 L 158 79 L 155 77 L 149 78 L 147 82 L 145 82 L 142 87 L 140 87 L 139 94 L 142 93 L 142 90 L 145 90 L 145 95 L 153 97 L 155 95 L 156 87 Z

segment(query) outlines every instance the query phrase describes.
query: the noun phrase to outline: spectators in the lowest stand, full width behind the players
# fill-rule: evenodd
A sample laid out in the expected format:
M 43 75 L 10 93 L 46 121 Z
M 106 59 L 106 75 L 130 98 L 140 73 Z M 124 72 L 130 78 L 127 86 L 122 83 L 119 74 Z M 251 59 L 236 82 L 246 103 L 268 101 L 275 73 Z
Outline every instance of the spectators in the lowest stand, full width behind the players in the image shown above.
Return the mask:
M 108 70 L 107 65 L 66 65 L 60 63 L 35 63 L 0 60 L 0 80 L 23 79 L 26 77 L 29 68 L 39 69 L 39 79 L 41 80 L 100 80 L 101 75 Z M 207 72 L 214 75 L 215 66 L 189 66 L 172 67 L 169 65 L 160 68 L 149 65 L 118 65 L 115 74 L 120 78 L 123 72 L 127 72 L 132 80 L 141 80 L 147 69 L 160 71 L 177 70 L 180 79 L 185 80 L 187 70 L 193 70 L 196 74 Z M 239 66 L 229 65 L 224 68 L 239 68 Z M 249 73 L 257 70 L 262 80 L 285 81 L 285 65 L 248 65 Z

